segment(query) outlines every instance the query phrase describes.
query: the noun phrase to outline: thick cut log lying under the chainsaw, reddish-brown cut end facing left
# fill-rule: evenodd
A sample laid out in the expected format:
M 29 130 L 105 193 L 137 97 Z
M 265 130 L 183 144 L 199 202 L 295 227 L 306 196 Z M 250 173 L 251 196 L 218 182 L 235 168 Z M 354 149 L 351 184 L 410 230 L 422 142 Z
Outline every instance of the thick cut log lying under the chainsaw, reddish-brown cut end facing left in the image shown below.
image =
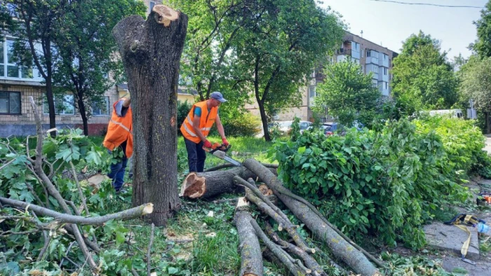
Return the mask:
M 266 169 L 271 172 L 276 169 Z M 273 173 L 273 172 L 271 172 Z M 215 171 L 215 172 L 191 172 L 182 182 L 181 193 L 187 198 L 203 198 L 209 199 L 222 193 L 243 193 L 242 186 L 234 184 L 234 177 L 238 176 L 242 179 L 253 178 L 257 176 L 247 170 L 245 167 L 234 167 L 230 170 Z

